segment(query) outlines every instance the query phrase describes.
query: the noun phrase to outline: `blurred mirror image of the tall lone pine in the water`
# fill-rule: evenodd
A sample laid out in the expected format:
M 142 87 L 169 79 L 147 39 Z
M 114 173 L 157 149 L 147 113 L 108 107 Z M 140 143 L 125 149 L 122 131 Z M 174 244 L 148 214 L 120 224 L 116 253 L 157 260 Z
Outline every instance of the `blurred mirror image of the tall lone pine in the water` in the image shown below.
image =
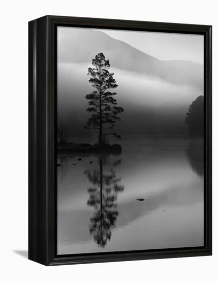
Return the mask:
M 124 186 L 119 184 L 121 178 L 116 177 L 113 169 L 118 165 L 117 163 L 120 163 L 120 160 L 115 161 L 109 171 L 103 170 L 105 161 L 105 156 L 99 156 L 99 170 L 85 172 L 94 186 L 88 189 L 87 205 L 94 208 L 89 229 L 94 242 L 101 247 L 105 247 L 107 241 L 111 239 L 111 229 L 115 227 L 118 216 L 117 204 L 115 204 L 117 194 L 124 190 Z

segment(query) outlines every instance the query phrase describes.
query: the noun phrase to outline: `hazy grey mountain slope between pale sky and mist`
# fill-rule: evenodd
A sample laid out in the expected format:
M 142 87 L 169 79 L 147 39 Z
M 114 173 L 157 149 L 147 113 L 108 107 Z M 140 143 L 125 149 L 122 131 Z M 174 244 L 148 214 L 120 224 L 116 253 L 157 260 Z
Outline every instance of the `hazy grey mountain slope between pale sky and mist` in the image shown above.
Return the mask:
M 203 65 L 191 61 L 161 61 L 101 31 L 61 28 L 58 42 L 61 42 L 59 62 L 89 63 L 97 53 L 103 52 L 112 67 L 175 84 L 203 87 Z

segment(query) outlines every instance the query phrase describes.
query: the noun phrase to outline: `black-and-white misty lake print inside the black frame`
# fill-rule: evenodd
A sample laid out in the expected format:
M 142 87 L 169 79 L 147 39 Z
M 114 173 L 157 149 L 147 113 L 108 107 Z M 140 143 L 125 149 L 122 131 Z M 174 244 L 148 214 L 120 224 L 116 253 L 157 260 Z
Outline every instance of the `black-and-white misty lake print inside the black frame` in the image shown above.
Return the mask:
M 57 254 L 204 246 L 203 35 L 57 27 Z

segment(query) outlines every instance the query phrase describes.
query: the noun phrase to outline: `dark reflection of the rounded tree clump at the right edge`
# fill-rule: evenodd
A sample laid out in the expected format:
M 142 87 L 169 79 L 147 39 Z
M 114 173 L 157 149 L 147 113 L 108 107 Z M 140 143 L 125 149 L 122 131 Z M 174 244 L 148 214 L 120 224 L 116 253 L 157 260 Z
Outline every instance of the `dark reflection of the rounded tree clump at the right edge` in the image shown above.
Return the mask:
M 194 172 L 199 176 L 204 174 L 204 151 L 203 151 L 203 140 L 191 140 L 186 149 L 186 155 L 189 164 Z

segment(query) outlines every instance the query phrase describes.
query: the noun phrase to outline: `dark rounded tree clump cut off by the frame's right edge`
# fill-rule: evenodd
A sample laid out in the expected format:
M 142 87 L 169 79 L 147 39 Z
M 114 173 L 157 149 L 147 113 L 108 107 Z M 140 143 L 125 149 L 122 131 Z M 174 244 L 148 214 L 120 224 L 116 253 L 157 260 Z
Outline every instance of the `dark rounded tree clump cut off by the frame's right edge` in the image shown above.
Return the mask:
M 203 136 L 204 134 L 204 105 L 203 96 L 197 97 L 188 108 L 185 123 L 188 125 L 190 136 Z

